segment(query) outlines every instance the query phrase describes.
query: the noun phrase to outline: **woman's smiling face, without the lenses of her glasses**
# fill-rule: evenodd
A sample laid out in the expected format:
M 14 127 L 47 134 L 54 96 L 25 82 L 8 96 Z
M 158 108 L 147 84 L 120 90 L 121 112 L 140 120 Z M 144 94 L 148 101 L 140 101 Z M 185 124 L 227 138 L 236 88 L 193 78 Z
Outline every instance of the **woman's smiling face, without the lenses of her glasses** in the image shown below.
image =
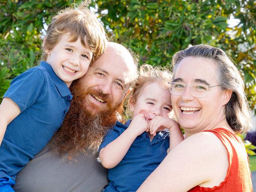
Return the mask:
M 217 66 L 213 60 L 201 57 L 186 57 L 178 64 L 174 82 L 186 85 L 216 86 L 209 88 L 206 97 L 198 98 L 186 86 L 182 95 L 172 94 L 172 107 L 179 124 L 189 132 L 213 129 L 225 117 L 225 91 L 217 78 Z

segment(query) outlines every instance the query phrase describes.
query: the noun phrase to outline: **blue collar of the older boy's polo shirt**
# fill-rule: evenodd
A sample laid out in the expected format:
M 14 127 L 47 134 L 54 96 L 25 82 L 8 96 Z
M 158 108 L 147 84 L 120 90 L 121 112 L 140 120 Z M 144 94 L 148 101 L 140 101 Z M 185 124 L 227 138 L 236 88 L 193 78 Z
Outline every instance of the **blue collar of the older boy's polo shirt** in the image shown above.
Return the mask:
M 67 84 L 63 80 L 61 80 L 56 73 L 53 71 L 52 67 L 49 65 L 49 63 L 41 61 L 40 65 L 46 69 L 46 71 L 49 73 L 50 77 L 52 78 L 52 81 L 56 88 L 58 89 L 60 95 L 62 97 L 66 97 L 67 95 L 71 95 L 71 92 L 69 88 L 67 87 Z

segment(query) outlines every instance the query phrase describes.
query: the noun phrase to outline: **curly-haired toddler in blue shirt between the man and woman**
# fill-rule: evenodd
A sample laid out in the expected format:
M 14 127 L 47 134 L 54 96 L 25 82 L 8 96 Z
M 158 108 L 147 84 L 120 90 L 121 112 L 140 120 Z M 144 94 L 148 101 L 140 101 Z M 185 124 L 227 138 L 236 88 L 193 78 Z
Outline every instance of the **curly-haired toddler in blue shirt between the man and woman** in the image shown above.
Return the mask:
M 135 192 L 172 149 L 183 140 L 178 123 L 171 119 L 168 71 L 143 65 L 129 100 L 133 119 L 117 123 L 100 148 L 101 164 L 110 183 L 104 192 Z M 169 131 L 171 139 L 169 141 Z M 157 134 L 156 134 L 157 133 Z

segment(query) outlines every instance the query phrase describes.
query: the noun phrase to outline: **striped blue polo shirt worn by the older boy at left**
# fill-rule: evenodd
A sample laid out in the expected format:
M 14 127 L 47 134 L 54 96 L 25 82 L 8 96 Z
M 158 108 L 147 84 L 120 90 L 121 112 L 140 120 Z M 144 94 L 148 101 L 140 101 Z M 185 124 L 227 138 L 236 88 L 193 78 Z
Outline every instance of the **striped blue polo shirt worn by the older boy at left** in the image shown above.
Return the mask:
M 0 178 L 15 179 L 60 128 L 69 110 L 69 88 L 48 63 L 40 64 L 15 77 L 4 95 L 21 113 L 7 126 L 0 146 Z

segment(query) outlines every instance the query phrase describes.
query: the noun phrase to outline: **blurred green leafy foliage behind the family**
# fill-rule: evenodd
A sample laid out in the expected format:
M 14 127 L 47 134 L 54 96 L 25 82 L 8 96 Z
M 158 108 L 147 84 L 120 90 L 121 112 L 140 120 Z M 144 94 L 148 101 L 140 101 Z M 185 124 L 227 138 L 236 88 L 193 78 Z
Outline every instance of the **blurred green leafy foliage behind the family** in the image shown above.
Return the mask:
M 0 102 L 11 79 L 39 63 L 51 17 L 71 3 L 0 0 Z M 237 63 L 256 110 L 256 0 L 97 0 L 91 6 L 110 39 L 129 46 L 140 64 L 170 65 L 189 45 L 222 48 Z

